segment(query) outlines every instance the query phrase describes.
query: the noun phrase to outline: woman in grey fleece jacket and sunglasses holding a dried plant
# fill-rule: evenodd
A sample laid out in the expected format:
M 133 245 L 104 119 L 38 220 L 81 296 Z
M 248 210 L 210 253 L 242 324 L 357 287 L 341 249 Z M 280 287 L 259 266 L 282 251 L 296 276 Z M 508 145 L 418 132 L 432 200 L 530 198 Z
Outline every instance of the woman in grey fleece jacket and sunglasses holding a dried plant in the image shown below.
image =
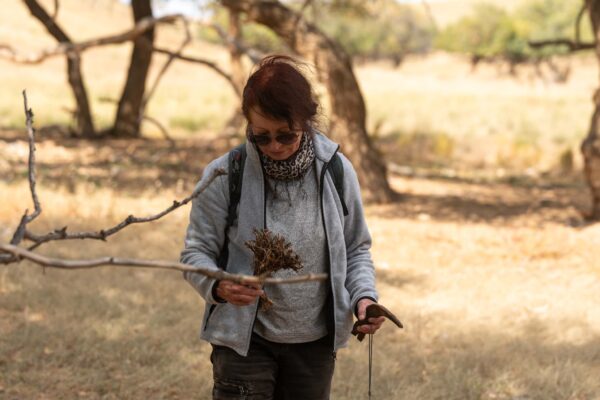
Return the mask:
M 254 228 L 268 228 L 292 243 L 304 265 L 299 274 L 330 279 L 261 288 L 185 274 L 206 302 L 201 337 L 213 346 L 213 398 L 328 399 L 352 314 L 364 319 L 377 300 L 356 173 L 339 146 L 316 131 L 318 104 L 294 59 L 263 59 L 244 88 L 242 110 L 248 140 L 237 219 L 226 229 L 229 185 L 221 176 L 193 202 L 181 261 L 216 269 L 226 243 L 226 270 L 251 275 L 244 243 L 254 239 Z M 335 154 L 343 199 L 325 173 Z M 227 154 L 212 161 L 203 179 L 228 165 Z M 263 293 L 274 303 L 266 311 L 258 307 Z M 359 330 L 375 333 L 383 320 L 372 318 Z

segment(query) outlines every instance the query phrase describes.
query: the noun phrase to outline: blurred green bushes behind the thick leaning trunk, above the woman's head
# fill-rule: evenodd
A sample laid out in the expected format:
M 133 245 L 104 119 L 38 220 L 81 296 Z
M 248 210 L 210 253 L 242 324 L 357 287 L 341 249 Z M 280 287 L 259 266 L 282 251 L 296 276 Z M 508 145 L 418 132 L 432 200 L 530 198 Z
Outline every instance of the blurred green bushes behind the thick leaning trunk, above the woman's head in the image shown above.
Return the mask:
M 304 1 L 290 1 L 288 6 L 300 9 Z M 398 4 L 394 0 L 321 0 L 302 10 L 303 15 L 325 34 L 339 43 L 351 56 L 363 59 L 388 58 L 400 62 L 409 53 L 423 53 L 431 47 L 433 32 L 419 7 Z M 213 22 L 227 26 L 227 12 L 214 9 Z M 221 43 L 210 28 L 200 28 L 200 38 Z M 254 23 L 243 23 L 244 43 L 265 53 L 287 48 L 270 29 Z

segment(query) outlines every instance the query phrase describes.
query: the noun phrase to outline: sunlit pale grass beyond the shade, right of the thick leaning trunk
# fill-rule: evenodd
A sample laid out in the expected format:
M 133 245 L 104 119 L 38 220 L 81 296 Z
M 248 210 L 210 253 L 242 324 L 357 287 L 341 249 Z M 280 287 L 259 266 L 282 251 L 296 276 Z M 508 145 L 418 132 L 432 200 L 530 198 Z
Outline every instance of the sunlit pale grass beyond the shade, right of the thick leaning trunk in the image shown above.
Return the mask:
M 517 78 L 465 59 L 432 54 L 399 69 L 386 64 L 358 69 L 369 111 L 370 131 L 399 164 L 437 163 L 471 168 L 560 167 L 587 134 L 597 86 L 590 56 L 562 60 L 572 67 L 566 84 L 543 81 L 532 67 Z M 425 142 L 425 143 L 424 143 Z

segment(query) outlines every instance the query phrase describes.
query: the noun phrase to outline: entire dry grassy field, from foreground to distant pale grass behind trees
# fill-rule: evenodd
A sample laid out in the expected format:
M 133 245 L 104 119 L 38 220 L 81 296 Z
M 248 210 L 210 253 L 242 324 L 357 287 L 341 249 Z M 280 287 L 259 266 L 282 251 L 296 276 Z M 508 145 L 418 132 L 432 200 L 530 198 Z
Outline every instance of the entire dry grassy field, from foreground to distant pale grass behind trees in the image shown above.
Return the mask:
M 445 5 L 470 2 L 431 4 L 442 21 L 456 18 Z M 130 24 L 117 2 L 60 3 L 59 22 L 78 40 Z M 3 6 L 0 42 L 24 52 L 53 45 L 20 2 Z M 82 17 L 92 14 L 94 23 Z M 179 40 L 175 27 L 159 32 L 165 46 Z M 112 121 L 105 98 L 120 95 L 128 52 L 84 56 L 99 126 Z M 189 54 L 227 67 L 214 46 L 195 43 Z M 398 69 L 356 67 L 370 131 L 403 194 L 366 208 L 381 302 L 406 325 L 387 324 L 375 337 L 374 399 L 600 399 L 600 227 L 581 217 L 589 199 L 577 150 L 598 72 L 589 55 L 559 62 L 571 64 L 565 84 L 530 67 L 516 78 L 498 66 L 471 71 L 466 60 L 437 53 Z M 37 126 L 69 124 L 64 70 L 61 59 L 0 60 L 0 242 L 31 208 L 21 90 Z M 175 63 L 150 103 L 174 145 L 77 141 L 42 130 L 43 213 L 32 229 L 98 230 L 185 197 L 206 162 L 232 144 L 217 134 L 234 107 L 216 74 Z M 157 137 L 153 129 L 144 126 L 144 134 Z M 188 212 L 131 226 L 107 243 L 55 243 L 40 252 L 175 260 Z M 179 273 L 0 266 L 0 398 L 209 398 L 210 346 L 197 336 L 202 307 Z M 339 353 L 333 399 L 367 398 L 367 354 L 366 342 L 355 340 Z

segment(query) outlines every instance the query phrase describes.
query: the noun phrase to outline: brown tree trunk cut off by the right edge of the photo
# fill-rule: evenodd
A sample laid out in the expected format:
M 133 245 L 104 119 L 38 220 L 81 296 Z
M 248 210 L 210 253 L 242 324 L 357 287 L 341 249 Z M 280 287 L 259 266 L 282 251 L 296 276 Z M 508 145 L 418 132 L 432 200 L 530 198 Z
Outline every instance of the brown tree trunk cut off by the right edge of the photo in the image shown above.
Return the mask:
M 600 0 L 586 0 L 596 39 L 596 56 L 600 62 Z M 600 89 L 594 95 L 594 114 L 587 137 L 581 144 L 584 171 L 592 194 L 592 211 L 589 218 L 600 220 Z

